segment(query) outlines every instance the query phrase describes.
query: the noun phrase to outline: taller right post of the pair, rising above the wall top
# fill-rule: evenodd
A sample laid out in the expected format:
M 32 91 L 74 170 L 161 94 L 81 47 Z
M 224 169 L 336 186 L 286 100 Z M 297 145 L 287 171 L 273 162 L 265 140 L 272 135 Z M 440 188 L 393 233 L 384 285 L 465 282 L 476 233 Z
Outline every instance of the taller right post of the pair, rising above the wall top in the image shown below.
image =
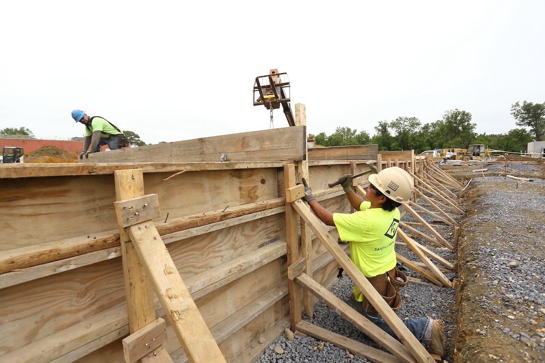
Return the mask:
M 306 109 L 305 105 L 301 103 L 295 104 L 295 126 L 305 126 L 305 140 L 306 134 Z M 308 143 L 304 146 L 304 160 L 297 162 L 298 181 L 302 183 L 302 178 L 305 178 L 307 183 L 310 184 L 310 178 L 308 175 Z M 312 231 L 307 226 L 305 221 L 301 218 L 301 256 L 304 257 L 306 263 L 306 274 L 312 278 Z M 314 295 L 303 289 L 303 306 L 305 306 L 306 315 L 309 318 L 314 316 Z

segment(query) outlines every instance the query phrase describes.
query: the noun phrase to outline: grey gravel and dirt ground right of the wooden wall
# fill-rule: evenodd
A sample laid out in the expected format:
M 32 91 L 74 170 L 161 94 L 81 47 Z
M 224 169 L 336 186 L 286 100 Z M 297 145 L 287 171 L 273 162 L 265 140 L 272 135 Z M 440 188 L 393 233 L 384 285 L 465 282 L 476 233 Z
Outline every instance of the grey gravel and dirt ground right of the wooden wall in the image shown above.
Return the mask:
M 397 312 L 400 318 L 443 319 L 447 336 L 444 359 L 449 363 L 545 361 L 545 181 L 538 177 L 531 182 L 504 179 L 498 176 L 504 171 L 502 166 L 476 167 L 487 168 L 489 174 L 474 178 L 465 190 L 461 207 L 467 216 L 453 216 L 461 223 L 458 252 L 434 249 L 450 262 L 459 260 L 458 290 L 408 284 L 401 291 L 403 305 Z M 512 170 L 526 176 L 541 176 L 542 170 L 528 164 L 511 164 L 508 168 L 508 174 L 515 176 Z M 432 222 L 426 214 L 423 218 Z M 402 220 L 414 221 L 409 214 Z M 452 227 L 436 229 L 453 243 Z M 407 248 L 396 250 L 416 260 Z M 410 270 L 405 273 L 415 275 Z M 452 280 L 457 273 L 446 276 Z M 350 299 L 352 287 L 352 280 L 344 275 L 331 292 L 354 306 Z M 314 314 L 312 319 L 304 319 L 381 349 L 322 302 L 316 303 Z M 295 335 L 289 341 L 281 336 L 257 362 L 370 362 L 330 343 L 320 343 L 312 337 Z M 277 347 L 283 349 L 282 354 L 275 352 Z

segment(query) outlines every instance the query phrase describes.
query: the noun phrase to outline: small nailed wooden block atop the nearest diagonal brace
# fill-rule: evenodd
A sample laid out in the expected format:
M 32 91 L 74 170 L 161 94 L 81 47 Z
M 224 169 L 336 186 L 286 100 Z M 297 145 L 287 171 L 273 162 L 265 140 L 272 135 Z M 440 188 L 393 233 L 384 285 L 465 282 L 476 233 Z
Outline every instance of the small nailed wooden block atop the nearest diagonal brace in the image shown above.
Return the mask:
M 161 217 L 157 194 L 114 202 L 114 205 L 121 216 L 117 219 L 118 224 L 123 228 Z

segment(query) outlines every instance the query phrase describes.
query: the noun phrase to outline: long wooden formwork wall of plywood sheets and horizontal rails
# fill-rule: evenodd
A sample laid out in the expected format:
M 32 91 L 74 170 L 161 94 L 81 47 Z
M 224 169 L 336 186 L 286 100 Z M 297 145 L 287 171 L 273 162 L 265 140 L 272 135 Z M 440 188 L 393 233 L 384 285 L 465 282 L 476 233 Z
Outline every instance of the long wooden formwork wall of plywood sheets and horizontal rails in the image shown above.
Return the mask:
M 254 361 L 289 327 L 283 167 L 305 160 L 305 126 L 221 138 L 221 150 L 220 137 L 199 139 L 198 155 L 221 151 L 231 161 L 158 158 L 195 151 L 190 140 L 161 144 L 164 153 L 152 145 L 147 161 L 0 167 L 0 361 L 124 360 L 129 322 L 113 207 L 120 169 L 142 169 L 146 194 L 158 194 L 154 224 L 227 362 Z M 281 147 L 267 146 L 272 139 Z M 268 148 L 268 160 L 256 145 Z M 349 212 L 341 187 L 327 184 L 378 157 L 308 162 L 314 195 Z M 314 279 L 329 288 L 337 262 L 312 238 Z M 167 335 L 174 361 L 186 361 L 171 328 Z

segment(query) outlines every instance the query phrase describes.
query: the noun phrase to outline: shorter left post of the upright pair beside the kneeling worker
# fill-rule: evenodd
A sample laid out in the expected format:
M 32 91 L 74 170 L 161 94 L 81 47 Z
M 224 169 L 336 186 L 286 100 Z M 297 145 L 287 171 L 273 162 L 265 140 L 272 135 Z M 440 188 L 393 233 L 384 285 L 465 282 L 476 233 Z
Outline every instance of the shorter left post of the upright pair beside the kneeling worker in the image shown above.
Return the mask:
M 295 186 L 295 164 L 284 165 L 284 187 Z M 288 266 L 299 259 L 299 236 L 297 235 L 297 212 L 291 203 L 286 201 L 286 248 L 288 254 Z M 301 321 L 301 286 L 293 281 L 289 285 L 289 316 L 292 330 Z

